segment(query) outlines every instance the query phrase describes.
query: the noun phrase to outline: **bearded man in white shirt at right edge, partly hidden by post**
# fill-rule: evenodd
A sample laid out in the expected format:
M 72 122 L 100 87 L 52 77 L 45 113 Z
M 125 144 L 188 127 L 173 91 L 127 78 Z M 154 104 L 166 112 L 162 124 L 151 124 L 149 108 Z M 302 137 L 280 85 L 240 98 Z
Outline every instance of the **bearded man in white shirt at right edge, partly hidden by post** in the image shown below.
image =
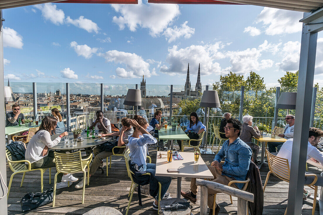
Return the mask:
M 323 164 L 323 153 L 316 148 L 321 137 L 323 137 L 323 131 L 319 130 L 318 128 L 309 128 L 306 160 L 311 159 Z M 277 154 L 277 157 L 286 158 L 289 162 L 289 166 L 292 160 L 292 148 L 293 148 L 293 139 L 288 139 L 281 146 L 281 149 Z M 307 176 L 305 177 L 304 184 L 305 185 L 310 184 L 313 181 L 314 181 L 314 176 Z M 314 185 L 323 186 L 323 177 L 318 175 L 318 181 L 316 181 Z M 304 189 L 303 199 L 306 200 L 307 197 L 310 195 L 311 193 Z

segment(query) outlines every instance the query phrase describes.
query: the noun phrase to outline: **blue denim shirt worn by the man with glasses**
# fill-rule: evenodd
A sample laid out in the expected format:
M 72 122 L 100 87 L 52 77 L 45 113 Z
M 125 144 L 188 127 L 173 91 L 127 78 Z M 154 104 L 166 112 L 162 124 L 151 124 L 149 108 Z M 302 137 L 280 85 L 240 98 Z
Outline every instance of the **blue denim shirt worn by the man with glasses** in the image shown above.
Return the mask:
M 222 175 L 238 181 L 244 181 L 249 170 L 251 154 L 250 147 L 238 137 L 230 145 L 229 140 L 226 140 L 219 153 L 215 155 L 214 161 L 221 162 L 222 158 L 225 157 Z M 235 185 L 239 189 L 244 186 L 241 183 L 236 183 Z

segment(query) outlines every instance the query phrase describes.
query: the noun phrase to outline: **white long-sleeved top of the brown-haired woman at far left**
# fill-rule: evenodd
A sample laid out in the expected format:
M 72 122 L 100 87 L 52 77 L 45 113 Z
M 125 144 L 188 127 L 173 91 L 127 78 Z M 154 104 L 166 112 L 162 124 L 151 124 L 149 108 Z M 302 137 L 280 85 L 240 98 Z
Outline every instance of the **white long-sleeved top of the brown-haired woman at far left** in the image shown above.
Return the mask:
M 50 139 L 50 133 L 45 130 L 40 130 L 37 132 L 29 141 L 27 149 L 25 152 L 25 158 L 30 163 L 39 161 L 40 159 L 46 157 L 42 155 L 45 146 L 52 148 L 60 142 L 61 138 L 58 136 L 55 140 Z

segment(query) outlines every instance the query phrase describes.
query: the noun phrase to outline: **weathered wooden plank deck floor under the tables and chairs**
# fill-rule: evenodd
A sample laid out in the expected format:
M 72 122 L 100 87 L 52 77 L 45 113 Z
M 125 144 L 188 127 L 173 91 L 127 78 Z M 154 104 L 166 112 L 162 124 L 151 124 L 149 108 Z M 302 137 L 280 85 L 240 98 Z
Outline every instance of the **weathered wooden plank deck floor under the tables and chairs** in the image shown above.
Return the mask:
M 185 151 L 190 151 L 185 149 Z M 156 150 L 150 149 L 150 156 L 152 162 L 156 161 Z M 203 154 L 203 160 L 206 164 L 210 164 L 214 155 Z M 105 168 L 105 164 L 104 164 Z M 309 166 L 309 172 L 319 174 L 318 168 Z M 266 174 L 268 172 L 268 166 L 263 165 L 260 173 L 263 184 L 266 179 Z M 7 181 L 11 176 L 11 170 L 7 167 Z M 51 188 L 53 186 L 55 169 L 52 170 L 52 184 L 49 184 L 49 173 L 45 172 L 44 175 L 44 190 Z M 81 178 L 83 173 L 74 174 L 74 176 Z M 86 186 L 85 189 L 85 201 L 81 204 L 82 200 L 82 189 L 76 189 L 74 185 L 68 188 L 63 188 L 57 190 L 56 193 L 56 206 L 52 207 L 52 203 L 36 210 L 32 210 L 28 213 L 21 212 L 20 199 L 27 192 L 39 192 L 40 191 L 40 172 L 32 171 L 26 173 L 24 184 L 20 187 L 22 174 L 16 174 L 11 191 L 8 199 L 8 214 L 28 214 L 28 215 L 45 215 L 45 214 L 83 214 L 93 208 L 100 206 L 109 206 L 116 208 L 122 212 L 126 213 L 128 205 L 128 192 L 130 189 L 131 181 L 128 178 L 126 165 L 124 159 L 119 156 L 112 157 L 112 167 L 109 169 L 109 177 L 106 177 L 106 173 L 101 174 L 98 170 L 95 175 L 90 178 L 90 185 Z M 168 192 L 171 193 L 172 197 L 176 197 L 176 183 L 177 180 L 173 178 Z M 190 178 L 182 179 L 182 190 L 186 191 L 190 188 Z M 200 192 L 199 192 L 200 193 Z M 311 214 L 313 205 L 313 193 L 312 196 L 307 200 L 303 200 L 302 214 Z M 263 214 L 284 214 L 287 206 L 287 196 L 288 196 L 288 183 L 281 181 L 275 176 L 269 178 L 266 192 L 264 198 L 264 211 Z M 132 202 L 130 205 L 129 214 L 145 214 L 145 215 L 157 215 L 157 211 L 152 210 L 151 197 L 145 197 L 142 195 L 142 207 L 138 205 L 138 195 L 134 194 Z M 197 195 L 197 204 L 193 205 L 193 214 L 200 214 L 200 194 Z M 216 196 L 217 203 L 221 206 L 220 214 L 236 214 L 237 211 L 237 200 L 233 197 L 233 204 L 230 202 L 230 198 L 226 194 L 218 194 Z M 0 213 L 1 214 L 1 213 Z M 316 205 L 315 214 L 319 214 L 318 203 Z

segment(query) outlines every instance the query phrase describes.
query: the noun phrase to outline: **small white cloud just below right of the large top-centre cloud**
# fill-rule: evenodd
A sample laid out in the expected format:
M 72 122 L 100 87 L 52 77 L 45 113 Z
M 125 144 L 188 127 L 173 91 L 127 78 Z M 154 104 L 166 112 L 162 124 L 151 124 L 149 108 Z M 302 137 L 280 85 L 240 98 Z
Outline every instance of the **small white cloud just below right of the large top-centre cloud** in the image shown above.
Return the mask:
M 188 39 L 195 33 L 195 28 L 187 26 L 187 23 L 188 21 L 185 21 L 181 27 L 175 25 L 173 28 L 166 28 L 163 35 L 166 37 L 166 40 L 168 40 L 168 43 L 171 43 L 180 37 Z

